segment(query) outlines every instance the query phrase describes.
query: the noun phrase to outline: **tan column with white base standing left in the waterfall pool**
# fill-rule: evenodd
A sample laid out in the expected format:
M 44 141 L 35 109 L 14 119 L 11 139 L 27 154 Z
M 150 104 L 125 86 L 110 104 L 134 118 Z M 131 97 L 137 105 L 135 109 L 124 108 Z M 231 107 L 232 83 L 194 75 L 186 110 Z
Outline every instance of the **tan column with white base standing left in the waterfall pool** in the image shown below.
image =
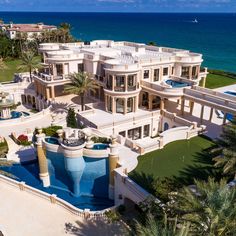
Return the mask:
M 43 150 L 43 139 L 45 138 L 45 134 L 42 133 L 42 129 L 38 129 L 38 134 L 36 135 L 37 142 L 37 155 L 38 155 L 38 163 L 39 163 L 39 178 L 43 182 L 43 187 L 50 186 L 50 177 L 48 173 L 48 163 L 45 155 L 45 151 Z

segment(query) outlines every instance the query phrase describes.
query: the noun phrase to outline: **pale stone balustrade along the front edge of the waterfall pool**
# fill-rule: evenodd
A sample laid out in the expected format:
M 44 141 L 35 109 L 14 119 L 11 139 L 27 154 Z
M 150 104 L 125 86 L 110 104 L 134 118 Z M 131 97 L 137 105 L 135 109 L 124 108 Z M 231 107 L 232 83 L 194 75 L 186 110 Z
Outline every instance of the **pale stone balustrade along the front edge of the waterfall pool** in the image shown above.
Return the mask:
M 57 206 L 62 207 L 63 209 L 72 213 L 73 215 L 77 215 L 77 216 L 80 216 L 85 219 L 88 219 L 88 218 L 106 219 L 105 212 L 115 209 L 115 206 L 114 206 L 114 207 L 111 207 L 111 208 L 108 208 L 108 209 L 105 209 L 102 211 L 81 210 L 81 209 L 71 205 L 70 203 L 62 200 L 61 198 L 58 198 L 57 195 L 48 194 L 46 192 L 43 192 L 43 191 L 38 190 L 36 188 L 33 188 L 33 187 L 25 184 L 25 182 L 19 182 L 19 181 L 13 180 L 11 178 L 8 178 L 6 176 L 3 176 L 3 175 L 0 175 L 0 182 L 10 185 L 16 189 L 20 189 L 21 191 L 25 191 L 25 192 L 31 194 L 32 196 L 37 196 L 43 200 L 49 201 L 52 204 L 56 204 Z

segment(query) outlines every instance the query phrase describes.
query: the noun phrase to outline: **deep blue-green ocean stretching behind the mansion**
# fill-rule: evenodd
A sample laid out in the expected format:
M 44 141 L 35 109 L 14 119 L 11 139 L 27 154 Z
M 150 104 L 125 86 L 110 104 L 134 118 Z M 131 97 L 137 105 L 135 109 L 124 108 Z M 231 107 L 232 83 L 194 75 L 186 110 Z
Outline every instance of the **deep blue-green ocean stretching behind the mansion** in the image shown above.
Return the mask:
M 68 22 L 73 36 L 86 41 L 154 41 L 160 46 L 189 49 L 203 54 L 204 66 L 236 72 L 234 13 L 0 12 L 0 18 L 14 23 Z

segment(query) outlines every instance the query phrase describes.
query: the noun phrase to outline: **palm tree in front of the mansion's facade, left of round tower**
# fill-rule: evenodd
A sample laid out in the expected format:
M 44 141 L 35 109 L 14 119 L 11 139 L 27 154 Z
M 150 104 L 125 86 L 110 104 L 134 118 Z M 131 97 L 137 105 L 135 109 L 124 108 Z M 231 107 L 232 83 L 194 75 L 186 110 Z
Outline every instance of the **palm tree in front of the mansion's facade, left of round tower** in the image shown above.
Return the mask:
M 80 95 L 82 111 L 84 111 L 85 94 L 90 90 L 95 92 L 98 84 L 86 72 L 78 72 L 70 75 L 71 84 L 65 85 L 64 92 Z

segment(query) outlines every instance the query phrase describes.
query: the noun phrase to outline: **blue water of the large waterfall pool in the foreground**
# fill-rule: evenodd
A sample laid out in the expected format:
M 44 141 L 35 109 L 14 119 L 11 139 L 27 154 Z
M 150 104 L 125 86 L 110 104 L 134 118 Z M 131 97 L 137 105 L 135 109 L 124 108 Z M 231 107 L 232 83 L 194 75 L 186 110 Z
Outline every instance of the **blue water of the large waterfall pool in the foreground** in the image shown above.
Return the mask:
M 39 179 L 38 163 L 15 164 L 10 167 L 0 167 L 0 170 L 11 173 L 16 180 L 50 194 L 56 194 L 59 198 L 72 205 L 92 211 L 102 210 L 114 205 L 108 199 L 109 170 L 107 158 L 87 158 L 85 168 L 80 179 L 80 196 L 74 196 L 73 181 L 65 168 L 64 156 L 61 153 L 47 151 L 48 168 L 51 185 L 44 188 Z

